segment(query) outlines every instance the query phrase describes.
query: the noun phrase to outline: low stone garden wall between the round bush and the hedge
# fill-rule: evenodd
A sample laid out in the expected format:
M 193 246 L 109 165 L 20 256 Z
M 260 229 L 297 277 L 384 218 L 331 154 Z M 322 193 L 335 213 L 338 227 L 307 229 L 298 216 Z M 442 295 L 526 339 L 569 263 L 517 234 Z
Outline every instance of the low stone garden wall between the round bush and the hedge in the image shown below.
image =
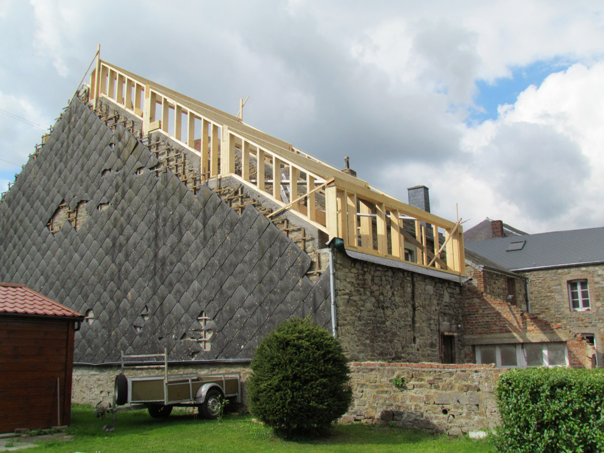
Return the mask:
M 493 365 L 386 362 L 350 364 L 353 403 L 342 422 L 396 423 L 458 435 L 500 422 Z M 402 388 L 393 379 L 400 377 Z

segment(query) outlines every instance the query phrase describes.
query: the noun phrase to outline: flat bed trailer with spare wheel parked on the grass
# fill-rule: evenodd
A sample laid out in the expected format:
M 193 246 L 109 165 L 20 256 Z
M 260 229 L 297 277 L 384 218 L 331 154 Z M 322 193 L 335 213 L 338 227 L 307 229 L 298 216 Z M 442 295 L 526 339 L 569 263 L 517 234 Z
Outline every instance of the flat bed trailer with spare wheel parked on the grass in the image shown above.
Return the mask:
M 162 358 L 163 361 L 157 361 Z M 142 361 L 146 359 L 147 361 Z M 149 359 L 153 359 L 149 362 Z M 156 376 L 127 377 L 128 368 L 163 368 Z M 113 405 L 97 404 L 97 417 L 107 413 L 112 416 L 111 425 L 103 431 L 115 428 L 115 413 L 147 409 L 150 416 L 164 418 L 174 406 L 197 407 L 207 419 L 216 419 L 227 402 L 240 402 L 241 376 L 236 374 L 168 373 L 168 355 L 124 355 L 121 353 L 121 373 L 115 376 Z

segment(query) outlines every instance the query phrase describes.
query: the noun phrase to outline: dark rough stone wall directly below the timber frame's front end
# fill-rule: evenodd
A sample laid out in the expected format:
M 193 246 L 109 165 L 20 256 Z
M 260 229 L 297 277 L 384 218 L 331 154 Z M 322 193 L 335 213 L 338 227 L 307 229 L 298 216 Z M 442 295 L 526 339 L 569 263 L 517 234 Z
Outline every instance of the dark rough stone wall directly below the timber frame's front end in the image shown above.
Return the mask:
M 440 362 L 440 336 L 463 360 L 460 284 L 335 255 L 336 329 L 352 361 Z

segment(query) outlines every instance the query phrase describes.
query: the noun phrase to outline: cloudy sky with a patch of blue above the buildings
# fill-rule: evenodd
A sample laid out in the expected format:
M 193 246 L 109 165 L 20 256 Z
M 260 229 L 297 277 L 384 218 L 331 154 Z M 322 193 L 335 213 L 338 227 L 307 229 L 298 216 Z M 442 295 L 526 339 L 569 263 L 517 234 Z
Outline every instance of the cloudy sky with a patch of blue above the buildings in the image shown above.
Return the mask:
M 604 226 L 601 1 L 0 0 L 0 42 L 0 191 L 100 44 L 466 230 Z

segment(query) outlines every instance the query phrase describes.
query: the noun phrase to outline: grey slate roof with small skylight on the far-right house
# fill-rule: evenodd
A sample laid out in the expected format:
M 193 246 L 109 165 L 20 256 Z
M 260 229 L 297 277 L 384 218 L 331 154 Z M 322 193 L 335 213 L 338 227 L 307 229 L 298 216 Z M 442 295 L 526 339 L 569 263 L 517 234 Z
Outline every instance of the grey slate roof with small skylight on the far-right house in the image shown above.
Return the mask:
M 512 243 L 522 249 L 508 251 Z M 604 262 L 604 227 L 501 237 L 465 247 L 512 271 L 599 263 Z

